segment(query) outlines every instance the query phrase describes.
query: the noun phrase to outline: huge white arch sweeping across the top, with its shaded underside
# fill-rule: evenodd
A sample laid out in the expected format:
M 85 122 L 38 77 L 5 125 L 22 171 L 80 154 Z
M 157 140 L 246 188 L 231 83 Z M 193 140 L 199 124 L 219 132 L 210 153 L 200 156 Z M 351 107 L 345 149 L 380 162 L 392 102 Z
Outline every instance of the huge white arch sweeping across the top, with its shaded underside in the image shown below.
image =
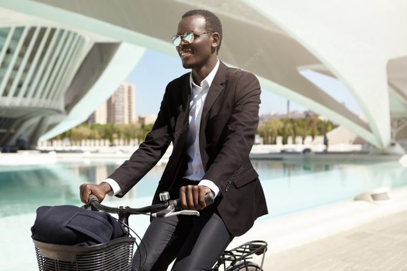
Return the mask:
M 262 87 L 330 118 L 379 149 L 398 139 L 397 131 L 404 128 L 407 5 L 401 0 L 121 0 L 115 5 L 99 0 L 3 0 L 1 6 L 133 44 L 139 49 L 134 64 L 143 48 L 177 56 L 170 37 L 181 15 L 208 9 L 224 28 L 219 58 L 255 73 Z M 300 73 L 304 70 L 343 82 L 367 121 L 308 81 Z M 62 121 L 58 131 L 68 126 Z

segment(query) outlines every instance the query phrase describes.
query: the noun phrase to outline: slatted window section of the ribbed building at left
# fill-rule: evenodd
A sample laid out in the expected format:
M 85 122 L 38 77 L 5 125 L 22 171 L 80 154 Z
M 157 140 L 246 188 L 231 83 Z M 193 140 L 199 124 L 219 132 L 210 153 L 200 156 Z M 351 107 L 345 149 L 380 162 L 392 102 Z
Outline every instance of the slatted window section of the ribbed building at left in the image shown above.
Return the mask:
M 11 25 L 1 31 L 1 105 L 59 110 L 73 67 L 82 60 L 83 36 L 41 25 Z

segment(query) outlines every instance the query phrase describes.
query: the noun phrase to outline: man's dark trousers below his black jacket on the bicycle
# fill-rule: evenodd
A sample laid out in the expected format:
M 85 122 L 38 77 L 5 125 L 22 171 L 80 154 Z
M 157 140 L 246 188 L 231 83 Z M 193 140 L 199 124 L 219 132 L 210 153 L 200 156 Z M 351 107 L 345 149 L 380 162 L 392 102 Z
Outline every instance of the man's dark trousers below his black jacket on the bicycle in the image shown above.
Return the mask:
M 216 203 L 197 216 L 154 218 L 133 257 L 132 271 L 165 271 L 176 259 L 173 271 L 210 270 L 234 236 L 217 214 Z M 147 259 L 146 259 L 147 252 Z M 141 256 L 140 256 L 141 255 Z

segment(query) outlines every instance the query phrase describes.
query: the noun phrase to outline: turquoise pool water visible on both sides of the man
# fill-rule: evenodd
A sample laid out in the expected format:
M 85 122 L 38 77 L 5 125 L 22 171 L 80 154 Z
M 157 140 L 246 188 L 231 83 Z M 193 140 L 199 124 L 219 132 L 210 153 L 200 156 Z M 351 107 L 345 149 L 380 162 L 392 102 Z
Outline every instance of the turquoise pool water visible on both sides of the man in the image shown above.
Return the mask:
M 398 162 L 252 161 L 266 193 L 269 217 L 352 199 L 368 189 L 407 184 Z M 33 213 L 41 205 L 80 205 L 79 185 L 100 183 L 118 167 L 89 161 L 49 166 L 0 167 L 0 216 Z M 155 166 L 126 198 L 152 197 L 164 166 Z M 108 199 L 113 200 L 113 199 Z

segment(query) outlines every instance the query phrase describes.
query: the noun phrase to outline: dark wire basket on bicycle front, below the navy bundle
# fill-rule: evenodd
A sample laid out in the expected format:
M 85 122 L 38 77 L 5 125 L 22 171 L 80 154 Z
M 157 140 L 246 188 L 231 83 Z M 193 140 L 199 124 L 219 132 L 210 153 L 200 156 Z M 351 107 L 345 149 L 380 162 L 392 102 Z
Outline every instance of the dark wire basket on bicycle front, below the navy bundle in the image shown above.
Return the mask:
M 41 271 L 131 271 L 135 240 L 121 237 L 88 247 L 33 242 Z

